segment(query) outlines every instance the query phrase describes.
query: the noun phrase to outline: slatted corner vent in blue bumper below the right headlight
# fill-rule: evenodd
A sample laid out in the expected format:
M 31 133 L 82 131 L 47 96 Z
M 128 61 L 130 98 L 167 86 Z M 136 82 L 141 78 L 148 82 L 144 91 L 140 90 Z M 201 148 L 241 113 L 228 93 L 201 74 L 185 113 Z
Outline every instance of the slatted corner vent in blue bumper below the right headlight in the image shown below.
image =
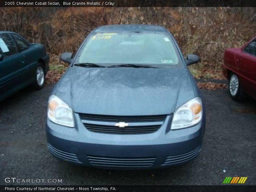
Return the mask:
M 190 151 L 188 153 L 180 154 L 180 155 L 174 155 L 174 156 L 169 156 L 166 158 L 164 164 L 162 165 L 174 165 L 174 164 L 179 164 L 186 162 L 190 159 L 195 158 L 198 153 L 200 152 L 200 147 L 194 149 L 193 151 Z

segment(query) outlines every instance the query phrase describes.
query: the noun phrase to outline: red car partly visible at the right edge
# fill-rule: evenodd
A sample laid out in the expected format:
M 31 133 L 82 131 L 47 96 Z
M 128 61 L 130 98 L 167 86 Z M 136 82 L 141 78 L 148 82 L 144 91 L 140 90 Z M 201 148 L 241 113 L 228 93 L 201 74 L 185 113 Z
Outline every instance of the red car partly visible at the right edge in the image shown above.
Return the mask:
M 241 101 L 244 93 L 256 99 L 256 36 L 242 48 L 226 49 L 222 68 L 232 99 Z

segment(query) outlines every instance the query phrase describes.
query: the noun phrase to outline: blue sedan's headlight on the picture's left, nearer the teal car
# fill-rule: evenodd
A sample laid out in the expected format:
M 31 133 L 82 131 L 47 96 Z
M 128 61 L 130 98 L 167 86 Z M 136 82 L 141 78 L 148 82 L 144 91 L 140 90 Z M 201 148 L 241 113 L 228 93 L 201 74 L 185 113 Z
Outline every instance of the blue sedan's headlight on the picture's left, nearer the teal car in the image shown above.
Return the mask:
M 47 116 L 53 123 L 74 127 L 72 109 L 55 95 L 51 95 L 49 98 Z

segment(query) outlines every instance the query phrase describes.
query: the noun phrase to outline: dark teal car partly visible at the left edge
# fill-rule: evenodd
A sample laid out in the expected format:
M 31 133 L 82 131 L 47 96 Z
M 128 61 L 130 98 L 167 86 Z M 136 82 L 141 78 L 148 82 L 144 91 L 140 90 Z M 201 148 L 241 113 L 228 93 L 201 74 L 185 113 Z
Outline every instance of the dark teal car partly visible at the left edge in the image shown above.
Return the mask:
M 43 88 L 49 60 L 44 45 L 0 31 L 0 101 L 31 84 Z

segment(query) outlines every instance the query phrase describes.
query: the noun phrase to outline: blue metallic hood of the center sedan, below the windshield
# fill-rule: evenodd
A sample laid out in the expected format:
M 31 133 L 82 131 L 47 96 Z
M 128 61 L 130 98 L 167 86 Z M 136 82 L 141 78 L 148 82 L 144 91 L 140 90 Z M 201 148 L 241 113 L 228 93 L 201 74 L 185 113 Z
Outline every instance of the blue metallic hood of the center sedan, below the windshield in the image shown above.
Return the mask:
M 195 86 L 187 69 L 71 67 L 55 95 L 76 113 L 162 115 L 194 98 Z

